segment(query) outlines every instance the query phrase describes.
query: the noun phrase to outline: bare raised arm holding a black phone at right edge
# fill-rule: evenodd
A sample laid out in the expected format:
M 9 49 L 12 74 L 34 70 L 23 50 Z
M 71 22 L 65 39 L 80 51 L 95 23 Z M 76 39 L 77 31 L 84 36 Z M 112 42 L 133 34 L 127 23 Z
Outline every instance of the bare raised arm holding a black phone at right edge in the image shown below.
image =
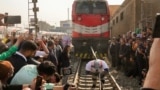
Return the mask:
M 154 31 L 154 41 L 150 49 L 149 70 L 141 90 L 160 90 L 160 15 L 157 15 Z

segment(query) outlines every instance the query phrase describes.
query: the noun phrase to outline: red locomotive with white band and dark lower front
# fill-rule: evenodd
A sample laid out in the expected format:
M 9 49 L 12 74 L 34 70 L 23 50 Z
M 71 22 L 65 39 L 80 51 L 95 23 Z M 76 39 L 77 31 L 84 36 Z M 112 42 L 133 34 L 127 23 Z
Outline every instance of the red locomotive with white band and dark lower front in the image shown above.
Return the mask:
M 74 0 L 72 4 L 72 43 L 75 56 L 92 59 L 107 56 L 110 11 L 106 0 Z

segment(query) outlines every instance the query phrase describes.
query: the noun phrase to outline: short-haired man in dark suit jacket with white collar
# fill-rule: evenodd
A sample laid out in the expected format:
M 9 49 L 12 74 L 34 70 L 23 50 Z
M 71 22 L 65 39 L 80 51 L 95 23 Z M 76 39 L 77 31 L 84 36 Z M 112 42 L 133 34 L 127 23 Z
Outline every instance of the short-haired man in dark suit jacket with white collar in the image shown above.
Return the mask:
M 19 71 L 21 67 L 23 67 L 26 64 L 38 64 L 30 59 L 30 57 L 34 56 L 36 50 L 37 46 L 34 42 L 24 41 L 22 43 L 20 50 L 9 58 L 9 61 L 12 63 L 14 67 L 13 76 L 15 75 L 15 73 Z M 9 82 L 11 79 L 9 79 Z

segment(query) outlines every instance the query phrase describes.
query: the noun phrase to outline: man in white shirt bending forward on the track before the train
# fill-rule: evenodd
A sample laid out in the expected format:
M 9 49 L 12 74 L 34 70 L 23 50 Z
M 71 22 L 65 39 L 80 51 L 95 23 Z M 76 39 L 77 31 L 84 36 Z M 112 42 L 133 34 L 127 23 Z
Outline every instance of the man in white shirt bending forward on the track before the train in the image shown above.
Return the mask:
M 96 81 L 97 77 L 100 74 L 101 78 L 101 83 L 104 84 L 104 76 L 108 73 L 108 65 L 104 60 L 96 59 L 96 60 L 91 60 L 86 64 L 86 73 L 92 75 L 92 80 L 93 80 L 93 86 L 92 88 L 96 87 Z

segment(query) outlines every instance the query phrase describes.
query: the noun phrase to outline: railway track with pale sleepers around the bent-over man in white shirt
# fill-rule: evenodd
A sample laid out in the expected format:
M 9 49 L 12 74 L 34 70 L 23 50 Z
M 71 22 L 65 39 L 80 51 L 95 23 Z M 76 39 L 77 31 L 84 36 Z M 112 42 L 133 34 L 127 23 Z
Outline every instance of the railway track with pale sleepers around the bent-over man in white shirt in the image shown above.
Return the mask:
M 78 58 L 74 61 L 76 62 L 72 63 L 73 74 L 70 75 L 68 82 L 76 84 L 78 90 L 121 90 L 110 73 L 105 76 L 105 83 L 103 85 L 97 79 L 96 88 L 92 89 L 92 76 L 85 74 L 85 65 L 88 61 Z

